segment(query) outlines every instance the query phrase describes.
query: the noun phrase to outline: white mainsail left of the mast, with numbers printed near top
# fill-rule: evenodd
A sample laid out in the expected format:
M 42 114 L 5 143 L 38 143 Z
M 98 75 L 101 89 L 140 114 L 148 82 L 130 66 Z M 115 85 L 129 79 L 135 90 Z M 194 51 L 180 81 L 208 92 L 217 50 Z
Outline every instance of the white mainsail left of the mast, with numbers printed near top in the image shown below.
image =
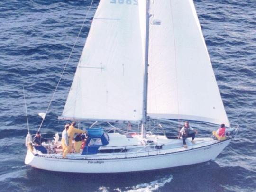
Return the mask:
M 59 119 L 142 118 L 145 0 L 101 0 Z

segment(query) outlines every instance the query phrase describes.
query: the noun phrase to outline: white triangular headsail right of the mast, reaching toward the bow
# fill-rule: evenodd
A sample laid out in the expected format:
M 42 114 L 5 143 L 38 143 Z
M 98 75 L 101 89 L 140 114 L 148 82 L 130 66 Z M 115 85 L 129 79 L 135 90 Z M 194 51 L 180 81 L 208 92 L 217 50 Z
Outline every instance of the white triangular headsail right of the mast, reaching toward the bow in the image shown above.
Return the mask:
M 192 0 L 150 6 L 148 114 L 229 125 Z

